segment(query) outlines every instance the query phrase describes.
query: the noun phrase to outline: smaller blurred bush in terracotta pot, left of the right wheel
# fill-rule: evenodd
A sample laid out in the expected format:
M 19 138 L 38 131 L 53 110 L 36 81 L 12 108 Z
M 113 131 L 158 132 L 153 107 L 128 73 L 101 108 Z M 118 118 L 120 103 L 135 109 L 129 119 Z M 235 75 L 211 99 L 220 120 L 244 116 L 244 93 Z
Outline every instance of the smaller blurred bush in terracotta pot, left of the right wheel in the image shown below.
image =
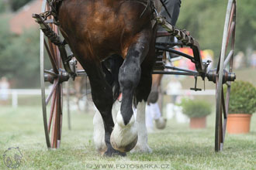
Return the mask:
M 211 114 L 211 105 L 203 100 L 183 99 L 182 112 L 190 118 L 190 128 L 206 128 L 206 116 Z

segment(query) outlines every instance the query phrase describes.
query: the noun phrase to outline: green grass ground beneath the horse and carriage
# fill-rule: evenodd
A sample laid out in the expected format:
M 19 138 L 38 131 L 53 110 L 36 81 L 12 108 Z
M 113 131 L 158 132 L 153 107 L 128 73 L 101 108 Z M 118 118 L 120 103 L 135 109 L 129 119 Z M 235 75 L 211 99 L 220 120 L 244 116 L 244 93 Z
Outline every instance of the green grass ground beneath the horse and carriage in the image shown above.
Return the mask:
M 256 169 L 256 116 L 251 133 L 227 134 L 224 151 L 214 152 L 214 115 L 208 127 L 190 130 L 188 124 L 168 121 L 164 130 L 149 134 L 151 154 L 130 154 L 106 158 L 95 151 L 92 114 L 71 113 L 72 130 L 64 117 L 61 148 L 47 151 L 40 107 L 1 107 L 0 169 L 7 169 L 2 155 L 19 147 L 22 162 L 18 169 Z M 148 168 L 147 165 L 152 165 Z M 158 167 L 156 167 L 157 165 Z M 146 167 L 146 168 L 145 168 Z

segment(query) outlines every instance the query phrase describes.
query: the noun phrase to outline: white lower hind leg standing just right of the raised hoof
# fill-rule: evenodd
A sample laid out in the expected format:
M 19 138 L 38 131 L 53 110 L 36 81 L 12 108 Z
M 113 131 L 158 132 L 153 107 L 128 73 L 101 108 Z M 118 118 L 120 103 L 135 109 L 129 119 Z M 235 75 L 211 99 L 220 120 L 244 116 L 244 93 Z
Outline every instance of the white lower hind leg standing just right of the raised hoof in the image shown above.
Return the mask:
M 138 141 L 132 152 L 151 152 L 152 150 L 147 145 L 147 128 L 145 124 L 145 108 L 146 102 L 143 100 L 137 105 L 137 126 L 138 126 Z

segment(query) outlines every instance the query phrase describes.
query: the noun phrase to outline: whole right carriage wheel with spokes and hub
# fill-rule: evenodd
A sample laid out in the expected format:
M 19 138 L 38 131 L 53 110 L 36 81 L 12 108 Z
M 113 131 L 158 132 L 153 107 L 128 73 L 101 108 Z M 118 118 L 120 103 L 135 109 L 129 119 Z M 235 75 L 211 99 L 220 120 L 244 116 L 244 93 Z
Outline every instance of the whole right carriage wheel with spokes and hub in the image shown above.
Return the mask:
M 236 0 L 229 0 L 227 15 L 223 31 L 223 42 L 220 59 L 216 73 L 216 129 L 215 129 L 215 151 L 223 150 L 223 142 L 226 134 L 227 114 L 230 100 L 231 81 L 236 76 L 233 71 L 234 42 L 236 26 Z M 227 86 L 226 95 L 223 87 Z

